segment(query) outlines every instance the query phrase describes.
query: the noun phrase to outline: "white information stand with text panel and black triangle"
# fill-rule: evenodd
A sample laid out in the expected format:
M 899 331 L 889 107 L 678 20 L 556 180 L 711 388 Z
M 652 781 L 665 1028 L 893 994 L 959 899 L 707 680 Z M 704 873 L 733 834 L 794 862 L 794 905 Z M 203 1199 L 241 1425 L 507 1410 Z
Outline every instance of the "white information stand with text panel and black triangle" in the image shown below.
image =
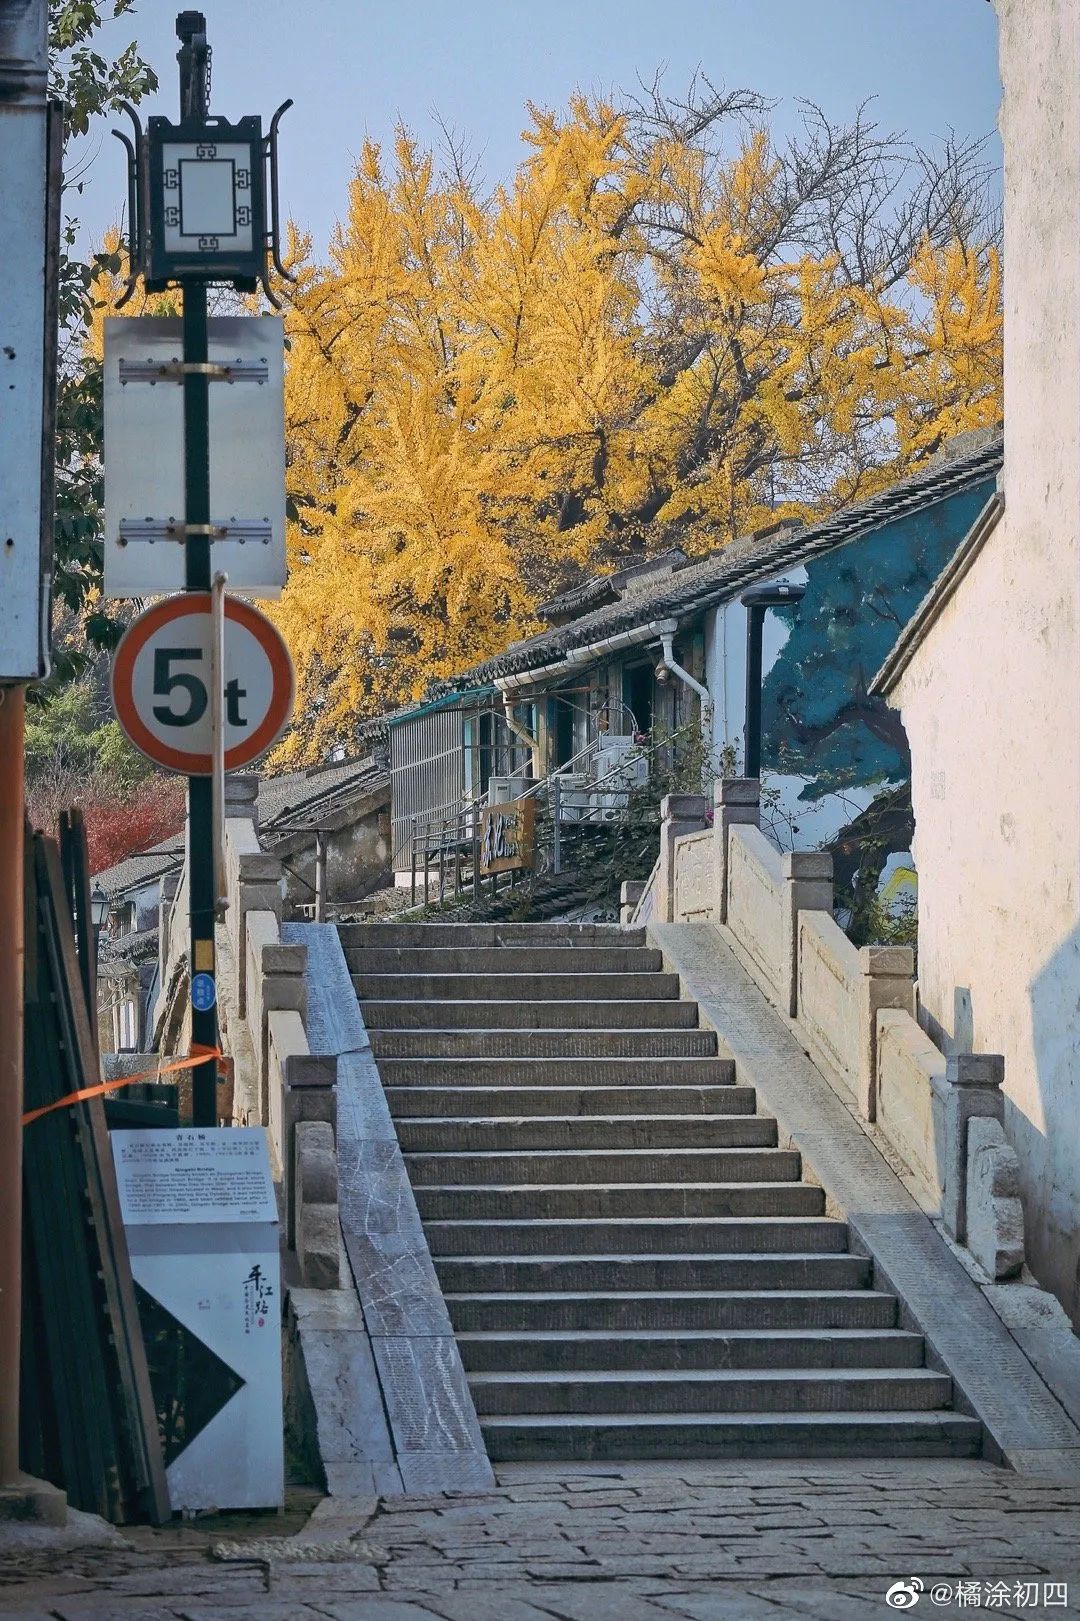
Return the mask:
M 174 1511 L 284 1501 L 277 1204 L 261 1127 L 112 1131 Z

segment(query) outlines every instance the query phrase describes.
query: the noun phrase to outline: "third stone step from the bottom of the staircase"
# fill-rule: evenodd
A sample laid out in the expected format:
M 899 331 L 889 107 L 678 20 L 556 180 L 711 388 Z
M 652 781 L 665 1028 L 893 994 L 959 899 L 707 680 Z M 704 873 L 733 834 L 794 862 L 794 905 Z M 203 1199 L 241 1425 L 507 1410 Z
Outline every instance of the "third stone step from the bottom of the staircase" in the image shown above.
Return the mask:
M 921 1368 L 921 1334 L 905 1329 L 594 1329 L 457 1334 L 470 1373 L 613 1368 Z

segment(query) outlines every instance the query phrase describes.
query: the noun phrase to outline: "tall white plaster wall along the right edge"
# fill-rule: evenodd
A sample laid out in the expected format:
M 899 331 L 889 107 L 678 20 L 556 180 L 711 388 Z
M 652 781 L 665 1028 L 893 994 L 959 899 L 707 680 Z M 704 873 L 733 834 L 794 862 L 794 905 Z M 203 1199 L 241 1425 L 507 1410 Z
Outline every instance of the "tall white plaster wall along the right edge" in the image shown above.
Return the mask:
M 919 997 L 1004 1052 L 1031 1266 L 1080 1313 L 1080 5 L 997 0 L 1005 514 L 905 673 Z

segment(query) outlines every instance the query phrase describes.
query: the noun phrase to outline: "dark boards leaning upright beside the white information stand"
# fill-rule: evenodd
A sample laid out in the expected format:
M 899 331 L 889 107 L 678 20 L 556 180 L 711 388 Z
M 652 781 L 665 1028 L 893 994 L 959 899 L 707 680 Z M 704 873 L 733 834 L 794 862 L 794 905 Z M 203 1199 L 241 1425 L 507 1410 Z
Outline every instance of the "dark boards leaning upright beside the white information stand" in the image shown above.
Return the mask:
M 101 1097 L 96 939 L 78 812 L 26 840 L 23 1467 L 114 1522 L 169 1517 Z

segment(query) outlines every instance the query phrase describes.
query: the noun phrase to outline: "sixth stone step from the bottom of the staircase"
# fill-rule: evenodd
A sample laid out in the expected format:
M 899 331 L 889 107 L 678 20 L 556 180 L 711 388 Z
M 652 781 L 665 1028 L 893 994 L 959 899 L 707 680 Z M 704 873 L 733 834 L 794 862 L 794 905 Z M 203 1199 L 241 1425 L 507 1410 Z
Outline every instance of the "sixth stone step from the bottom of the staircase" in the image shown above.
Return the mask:
M 603 1221 L 428 1221 L 433 1256 L 467 1255 L 824 1255 L 846 1253 L 846 1222 L 827 1216 L 637 1217 Z

